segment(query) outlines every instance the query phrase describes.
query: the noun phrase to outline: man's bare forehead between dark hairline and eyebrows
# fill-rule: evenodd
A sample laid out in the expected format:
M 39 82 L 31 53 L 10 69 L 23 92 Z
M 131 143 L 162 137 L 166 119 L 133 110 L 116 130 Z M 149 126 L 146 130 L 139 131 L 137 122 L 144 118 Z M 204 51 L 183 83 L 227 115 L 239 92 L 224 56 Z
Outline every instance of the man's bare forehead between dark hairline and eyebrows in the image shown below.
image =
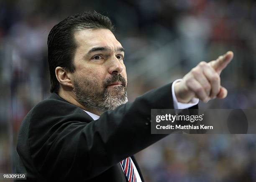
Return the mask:
M 74 33 L 77 49 L 89 51 L 93 47 L 108 47 L 111 50 L 121 47 L 115 35 L 108 29 L 85 29 Z

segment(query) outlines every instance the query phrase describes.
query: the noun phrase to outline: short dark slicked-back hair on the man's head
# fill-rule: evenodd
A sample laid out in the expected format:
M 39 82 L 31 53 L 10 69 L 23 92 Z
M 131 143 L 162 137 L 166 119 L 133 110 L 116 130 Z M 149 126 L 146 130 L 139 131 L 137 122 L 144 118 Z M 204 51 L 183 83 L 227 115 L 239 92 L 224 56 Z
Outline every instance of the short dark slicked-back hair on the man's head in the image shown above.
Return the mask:
M 61 66 L 72 73 L 75 71 L 73 59 L 77 44 L 74 40 L 74 32 L 87 28 L 107 28 L 110 31 L 114 29 L 110 18 L 96 11 L 69 16 L 51 29 L 47 41 L 51 92 L 57 93 L 59 91 L 59 81 L 55 76 L 57 66 Z

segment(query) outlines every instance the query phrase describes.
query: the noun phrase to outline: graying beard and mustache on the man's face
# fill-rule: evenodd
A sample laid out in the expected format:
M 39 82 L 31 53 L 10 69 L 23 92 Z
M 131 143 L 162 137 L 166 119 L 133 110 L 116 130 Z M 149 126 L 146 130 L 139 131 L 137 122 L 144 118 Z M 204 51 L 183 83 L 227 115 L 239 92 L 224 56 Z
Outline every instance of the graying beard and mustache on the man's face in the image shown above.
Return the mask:
M 107 89 L 108 83 L 118 80 L 122 82 L 122 86 L 115 86 L 112 88 L 114 91 Z M 126 81 L 120 74 L 104 81 L 103 91 L 100 92 L 100 88 L 102 89 L 102 86 L 95 84 L 95 81 L 74 80 L 74 93 L 77 101 L 86 108 L 93 108 L 105 112 L 128 102 Z

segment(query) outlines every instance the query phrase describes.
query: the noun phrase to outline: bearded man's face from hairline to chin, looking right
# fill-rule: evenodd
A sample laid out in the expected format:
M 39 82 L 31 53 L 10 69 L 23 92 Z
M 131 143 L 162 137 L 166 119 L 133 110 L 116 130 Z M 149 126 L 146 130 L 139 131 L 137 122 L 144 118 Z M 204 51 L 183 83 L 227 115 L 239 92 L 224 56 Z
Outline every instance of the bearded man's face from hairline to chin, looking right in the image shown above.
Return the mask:
M 78 30 L 74 34 L 74 94 L 86 108 L 106 111 L 125 104 L 127 75 L 124 49 L 108 29 Z

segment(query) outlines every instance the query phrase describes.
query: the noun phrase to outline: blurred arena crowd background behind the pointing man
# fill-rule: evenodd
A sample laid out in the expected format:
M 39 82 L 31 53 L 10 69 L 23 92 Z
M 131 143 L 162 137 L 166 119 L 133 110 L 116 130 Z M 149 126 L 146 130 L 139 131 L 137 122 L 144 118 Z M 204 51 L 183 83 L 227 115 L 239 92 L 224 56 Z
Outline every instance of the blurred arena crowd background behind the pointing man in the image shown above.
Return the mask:
M 0 173 L 13 172 L 24 116 L 50 95 L 49 31 L 85 10 L 115 24 L 130 101 L 232 50 L 221 74 L 227 98 L 200 107 L 256 109 L 256 0 L 1 0 Z M 146 182 L 256 181 L 253 134 L 172 134 L 136 157 Z

